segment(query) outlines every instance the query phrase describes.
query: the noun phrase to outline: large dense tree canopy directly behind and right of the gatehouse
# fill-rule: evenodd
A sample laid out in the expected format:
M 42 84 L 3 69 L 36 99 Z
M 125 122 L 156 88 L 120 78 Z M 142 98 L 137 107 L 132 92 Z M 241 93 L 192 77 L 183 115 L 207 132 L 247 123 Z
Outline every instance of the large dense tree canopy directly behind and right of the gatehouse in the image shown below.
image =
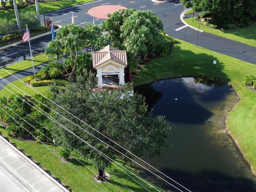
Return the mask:
M 102 30 L 108 32 L 111 45 L 126 50 L 128 57 L 146 58 L 155 55 L 166 56 L 169 42 L 163 32 L 163 24 L 150 10 L 123 9 L 108 14 L 101 23 Z M 128 63 L 133 71 L 137 63 Z

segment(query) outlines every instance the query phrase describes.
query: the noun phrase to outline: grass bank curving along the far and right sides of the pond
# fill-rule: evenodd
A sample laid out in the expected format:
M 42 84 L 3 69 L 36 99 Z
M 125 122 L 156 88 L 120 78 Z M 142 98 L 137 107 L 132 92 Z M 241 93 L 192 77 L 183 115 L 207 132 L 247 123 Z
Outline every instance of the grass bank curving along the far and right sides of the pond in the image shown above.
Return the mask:
M 133 77 L 134 86 L 166 78 L 202 76 L 223 80 L 240 96 L 228 114 L 226 126 L 256 172 L 256 92 L 244 78 L 256 75 L 256 65 L 178 40 L 169 56 L 151 60 Z M 214 68 L 213 60 L 217 61 Z

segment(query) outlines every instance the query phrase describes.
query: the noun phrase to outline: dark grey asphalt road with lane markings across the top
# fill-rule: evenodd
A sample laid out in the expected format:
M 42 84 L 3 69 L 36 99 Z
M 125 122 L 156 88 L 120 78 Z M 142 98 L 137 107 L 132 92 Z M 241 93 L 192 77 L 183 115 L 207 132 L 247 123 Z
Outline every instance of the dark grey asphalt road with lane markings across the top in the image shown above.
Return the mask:
M 137 10 L 152 10 L 162 20 L 166 34 L 190 42 L 194 45 L 198 44 L 198 48 L 206 48 L 213 50 L 252 64 L 256 64 L 256 47 L 241 44 L 226 38 L 221 38 L 206 32 L 199 32 L 190 27 L 184 27 L 180 30 L 178 28 L 185 26 L 180 20 L 180 14 L 184 10 L 182 4 L 177 0 L 172 2 L 153 2 L 150 0 L 96 0 L 86 4 L 74 6 L 58 10 L 52 13 L 45 14 L 45 18 L 52 18 L 54 24 L 64 25 L 72 23 L 72 14 L 74 15 L 74 22 L 80 26 L 87 23 L 95 23 L 100 25 L 104 19 L 94 18 L 88 14 L 88 10 L 101 5 L 121 5 L 126 8 L 135 8 Z M 41 24 L 44 24 L 44 16 L 41 15 Z M 198 41 L 197 41 L 197 36 Z M 51 35 L 31 41 L 32 49 L 36 52 L 43 52 L 47 43 L 51 40 Z M 196 46 L 195 46 L 196 48 Z M 8 62 L 8 60 L 19 58 L 24 55 L 29 55 L 28 42 L 19 44 L 12 48 L 0 51 L 0 64 Z M 200 58 L 198 58 L 200 59 Z

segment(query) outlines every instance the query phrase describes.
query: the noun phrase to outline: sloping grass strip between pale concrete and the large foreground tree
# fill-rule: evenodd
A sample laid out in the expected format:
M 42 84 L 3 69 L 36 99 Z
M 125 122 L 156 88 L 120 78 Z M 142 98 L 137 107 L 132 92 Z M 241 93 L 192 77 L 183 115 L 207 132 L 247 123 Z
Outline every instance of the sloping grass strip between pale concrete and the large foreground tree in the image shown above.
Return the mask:
M 0 132 L 4 137 L 8 137 L 7 131 L 4 129 L 4 127 L 0 126 Z M 74 154 L 75 158 L 71 159 L 68 163 L 66 163 L 63 160 L 60 160 L 60 158 L 58 157 L 60 156 L 61 149 L 52 144 L 46 144 L 46 147 L 36 142 L 22 141 L 10 136 L 8 138 L 11 143 L 17 146 L 17 148 L 24 150 L 27 156 L 31 156 L 35 162 L 39 163 L 45 170 L 50 171 L 50 173 L 55 178 L 61 180 L 64 185 L 68 186 L 68 188 L 71 188 L 72 192 L 98 192 L 102 190 L 112 192 L 157 191 L 154 188 L 145 184 L 142 181 L 143 179 L 139 180 L 138 178 L 136 178 L 135 181 L 132 180 L 130 176 L 132 176 L 132 178 L 135 177 L 130 173 L 125 174 L 124 172 L 127 171 L 120 166 L 113 166 L 111 169 L 106 170 L 106 172 L 110 174 L 109 182 L 104 182 L 103 184 L 96 183 L 93 180 L 93 175 L 98 173 L 98 170 L 96 169 L 96 166 L 92 164 L 92 162 L 86 161 L 80 158 L 80 156 Z M 50 148 L 50 150 L 48 150 L 48 148 Z M 56 156 L 53 152 L 58 154 L 58 156 Z M 117 160 L 117 162 L 124 166 L 126 169 L 136 174 L 136 176 L 141 178 L 140 175 L 136 173 L 132 168 L 130 168 L 126 164 L 123 164 L 123 162 L 121 162 L 120 160 Z M 74 170 L 71 166 L 78 171 Z M 124 172 L 122 172 L 122 170 L 124 170 Z M 84 176 L 82 176 L 81 174 L 83 174 Z M 142 184 L 142 186 L 146 186 L 148 190 L 143 188 L 140 184 Z M 163 191 L 158 187 L 156 188 L 160 191 Z

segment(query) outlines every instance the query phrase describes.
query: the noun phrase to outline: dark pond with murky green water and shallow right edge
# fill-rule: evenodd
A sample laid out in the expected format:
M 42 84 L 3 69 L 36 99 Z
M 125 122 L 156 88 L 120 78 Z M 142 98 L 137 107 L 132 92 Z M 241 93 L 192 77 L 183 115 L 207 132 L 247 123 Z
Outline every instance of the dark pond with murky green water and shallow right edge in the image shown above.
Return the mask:
M 203 78 L 176 78 L 134 90 L 146 97 L 154 115 L 166 116 L 172 126 L 166 139 L 170 147 L 162 148 L 162 157 L 143 159 L 187 189 L 161 176 L 178 189 L 174 188 L 138 169 L 142 176 L 165 191 L 256 191 L 250 167 L 225 126 L 228 112 L 239 102 L 230 86 Z

